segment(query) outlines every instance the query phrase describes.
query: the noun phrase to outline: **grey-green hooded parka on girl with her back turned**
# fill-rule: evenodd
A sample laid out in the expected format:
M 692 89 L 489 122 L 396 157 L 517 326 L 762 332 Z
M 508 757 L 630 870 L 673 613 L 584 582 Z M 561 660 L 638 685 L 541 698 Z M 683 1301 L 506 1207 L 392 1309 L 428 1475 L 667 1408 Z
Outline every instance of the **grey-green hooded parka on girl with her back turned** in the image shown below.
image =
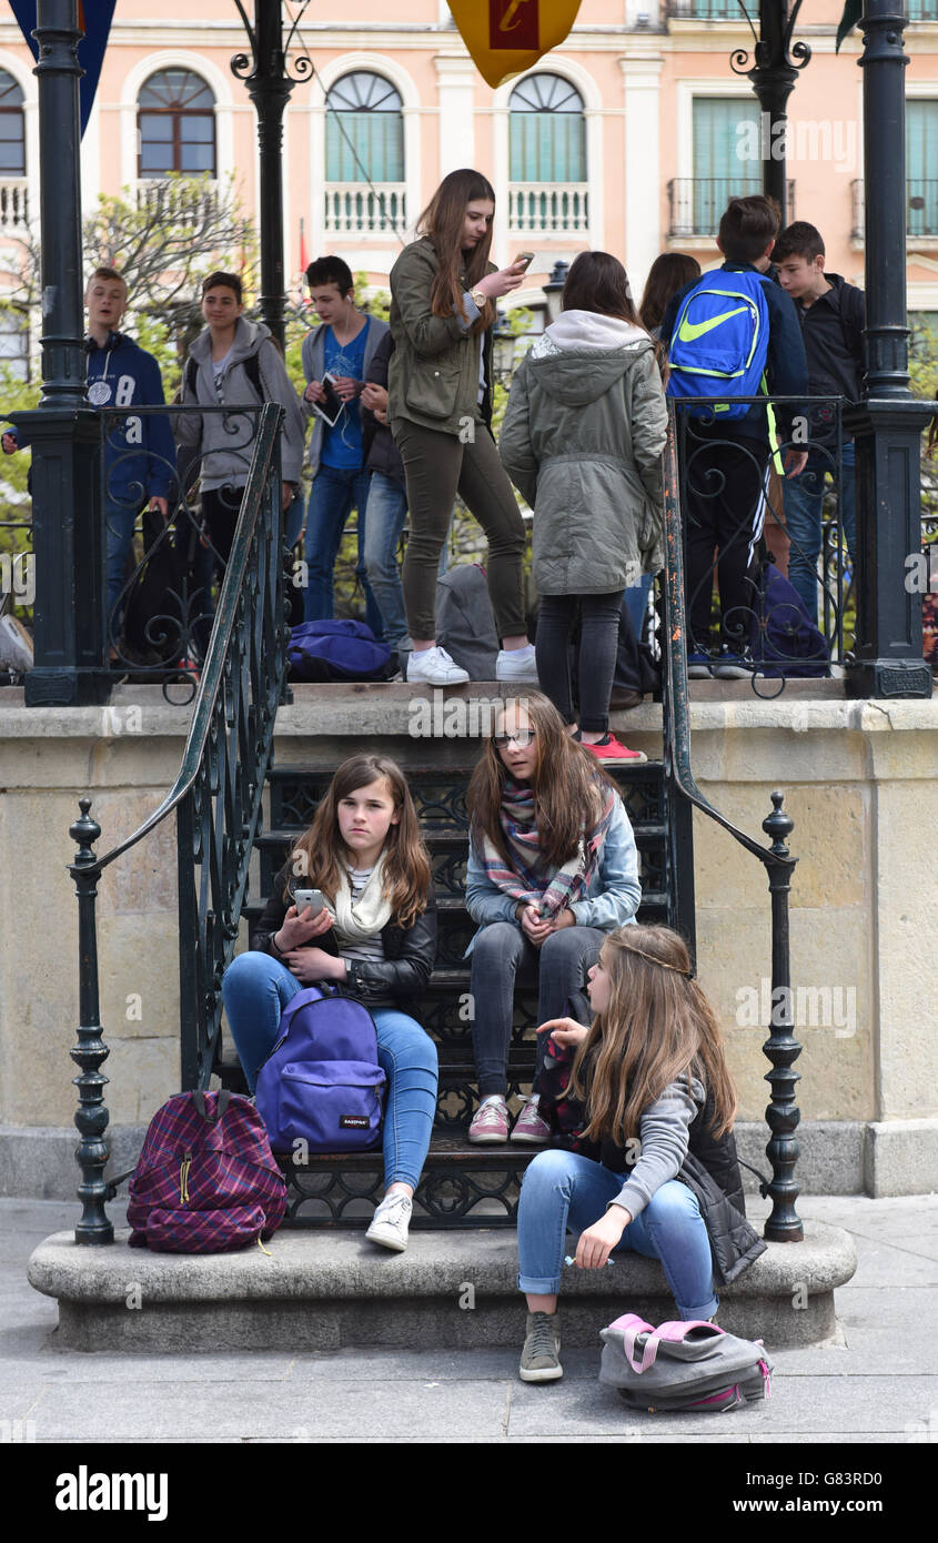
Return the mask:
M 566 310 L 518 366 L 498 449 L 534 509 L 540 594 L 611 594 L 662 565 L 668 409 L 651 338 Z

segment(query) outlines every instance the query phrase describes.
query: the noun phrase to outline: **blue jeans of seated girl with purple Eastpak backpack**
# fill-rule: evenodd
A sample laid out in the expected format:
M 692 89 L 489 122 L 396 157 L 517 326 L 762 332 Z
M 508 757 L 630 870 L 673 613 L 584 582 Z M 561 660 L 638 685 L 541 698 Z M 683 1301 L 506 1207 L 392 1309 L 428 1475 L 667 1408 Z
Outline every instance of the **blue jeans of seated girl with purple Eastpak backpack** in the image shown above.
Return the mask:
M 261 1062 L 278 1042 L 282 1011 L 302 989 L 285 964 L 259 950 L 239 954 L 224 974 L 228 1028 L 251 1092 Z M 437 1113 L 437 1046 L 420 1023 L 396 1008 L 372 1008 L 370 1014 L 378 1031 L 378 1065 L 387 1077 L 384 1185 L 417 1188 Z

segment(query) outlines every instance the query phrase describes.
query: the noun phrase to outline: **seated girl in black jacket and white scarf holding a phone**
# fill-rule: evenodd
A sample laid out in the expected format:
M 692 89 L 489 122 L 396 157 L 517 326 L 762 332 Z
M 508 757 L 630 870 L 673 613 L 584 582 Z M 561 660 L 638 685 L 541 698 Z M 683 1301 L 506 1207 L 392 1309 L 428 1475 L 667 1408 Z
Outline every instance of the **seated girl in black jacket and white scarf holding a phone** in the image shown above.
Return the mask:
M 324 900 L 318 912 L 293 898 L 310 889 Z M 222 997 L 251 1092 L 302 986 L 338 981 L 369 1009 L 387 1108 L 386 1193 L 366 1236 L 398 1251 L 437 1109 L 437 1046 L 410 1015 L 435 952 L 430 864 L 404 775 L 384 756 L 352 756 L 278 873 L 251 949 L 225 971 Z

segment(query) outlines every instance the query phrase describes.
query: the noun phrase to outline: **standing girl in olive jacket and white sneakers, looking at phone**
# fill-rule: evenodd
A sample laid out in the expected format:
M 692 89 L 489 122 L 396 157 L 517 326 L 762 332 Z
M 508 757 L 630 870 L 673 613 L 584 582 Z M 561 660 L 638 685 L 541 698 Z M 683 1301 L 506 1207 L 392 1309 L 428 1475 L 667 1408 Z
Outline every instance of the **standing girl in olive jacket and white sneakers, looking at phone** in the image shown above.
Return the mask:
M 467 680 L 435 642 L 437 566 L 457 492 L 489 539 L 486 579 L 501 637 L 500 680 L 535 680 L 523 597 L 525 525 L 491 434 L 495 299 L 526 264 L 489 262 L 495 193 L 478 171 L 450 171 L 420 216 L 418 239 L 390 270 L 387 417 L 404 463 L 410 539 L 403 568 L 413 639 L 409 680 Z

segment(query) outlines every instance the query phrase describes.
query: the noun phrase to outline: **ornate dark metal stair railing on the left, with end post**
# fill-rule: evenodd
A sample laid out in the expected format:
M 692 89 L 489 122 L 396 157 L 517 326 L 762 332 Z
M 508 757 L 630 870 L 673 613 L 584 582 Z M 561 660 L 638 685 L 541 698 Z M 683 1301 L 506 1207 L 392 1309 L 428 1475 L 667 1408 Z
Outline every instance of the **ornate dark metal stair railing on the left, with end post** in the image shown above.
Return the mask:
M 181 1086 L 208 1082 L 221 1028 L 221 983 L 235 954 L 247 890 L 251 846 L 270 762 L 273 725 L 285 684 L 285 593 L 279 420 L 268 403 L 258 410 L 244 500 L 221 586 L 218 613 L 193 707 L 179 775 L 153 815 L 127 841 L 99 858 L 100 826 L 91 799 L 79 799 L 69 827 L 79 852 L 69 872 L 79 896 L 79 1043 L 73 1060 L 82 1136 L 82 1217 L 76 1242 L 113 1242 L 105 1213 L 113 1187 L 100 1071 L 108 1046 L 99 1017 L 94 901 L 99 875 L 176 813 L 179 880 Z

